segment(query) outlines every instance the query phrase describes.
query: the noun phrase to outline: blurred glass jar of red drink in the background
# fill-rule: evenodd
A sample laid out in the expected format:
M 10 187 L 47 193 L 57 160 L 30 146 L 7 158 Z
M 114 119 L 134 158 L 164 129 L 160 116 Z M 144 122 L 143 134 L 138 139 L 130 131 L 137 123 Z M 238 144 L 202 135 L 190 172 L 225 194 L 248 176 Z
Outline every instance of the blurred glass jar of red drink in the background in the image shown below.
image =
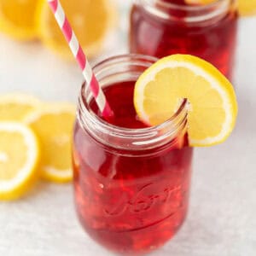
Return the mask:
M 189 54 L 211 62 L 232 79 L 237 2 L 189 5 L 184 0 L 135 0 L 131 9 L 131 53 L 164 57 Z

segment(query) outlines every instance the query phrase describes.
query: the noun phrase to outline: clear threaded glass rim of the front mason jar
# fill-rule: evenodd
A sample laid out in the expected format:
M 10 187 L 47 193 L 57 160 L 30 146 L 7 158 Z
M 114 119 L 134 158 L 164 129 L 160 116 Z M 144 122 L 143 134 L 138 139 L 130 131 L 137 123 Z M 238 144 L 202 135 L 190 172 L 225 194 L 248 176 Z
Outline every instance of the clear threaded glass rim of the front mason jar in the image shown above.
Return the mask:
M 136 54 L 128 54 L 128 55 L 116 55 L 110 57 L 104 61 L 98 62 L 94 67 L 93 71 L 96 75 L 96 79 L 99 80 L 101 83 L 101 79 L 99 78 L 99 72 L 101 72 L 104 68 L 108 68 L 108 66 L 120 65 L 120 63 L 125 64 L 125 60 L 127 63 L 129 61 L 133 61 L 136 65 L 140 65 L 142 63 L 153 64 L 157 61 L 157 58 L 148 56 L 148 55 L 136 55 Z M 144 62 L 143 62 L 144 61 Z M 130 63 L 131 64 L 131 63 Z M 148 66 L 149 67 L 149 66 Z M 180 129 L 185 129 L 187 125 L 187 99 L 183 99 L 177 112 L 172 115 L 169 119 L 165 122 L 161 123 L 160 125 L 149 126 L 146 128 L 139 128 L 139 129 L 132 129 L 132 128 L 125 128 L 120 127 L 117 125 L 112 125 L 108 123 L 108 121 L 101 119 L 96 113 L 91 111 L 89 102 L 88 102 L 88 95 L 90 94 L 89 86 L 86 86 L 86 83 L 82 85 L 80 95 L 79 95 L 79 111 L 78 111 L 78 119 L 79 123 L 82 126 L 96 127 L 96 129 L 102 134 L 112 134 L 115 137 L 126 139 L 133 139 L 137 140 L 137 143 L 133 143 L 133 145 L 137 144 L 137 147 L 143 145 L 140 143 L 143 139 L 147 139 L 151 143 L 157 143 L 161 137 L 173 137 L 172 135 L 177 135 L 177 132 Z M 90 94 L 91 99 L 91 94 Z M 90 129 L 89 128 L 89 129 Z M 160 132 L 161 131 L 161 132 Z M 162 131 L 165 131 L 164 133 Z M 162 133 L 160 135 L 160 133 Z M 137 148 L 138 149 L 138 148 Z

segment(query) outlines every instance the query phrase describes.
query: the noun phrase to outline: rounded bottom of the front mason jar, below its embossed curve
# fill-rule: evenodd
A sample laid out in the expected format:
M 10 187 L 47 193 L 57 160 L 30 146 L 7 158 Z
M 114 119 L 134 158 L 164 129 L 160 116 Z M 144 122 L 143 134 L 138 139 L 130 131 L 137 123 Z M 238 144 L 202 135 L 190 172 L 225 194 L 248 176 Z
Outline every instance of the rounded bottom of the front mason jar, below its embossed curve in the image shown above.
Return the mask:
M 122 255 L 143 255 L 153 252 L 170 241 L 182 227 L 187 211 L 177 212 L 164 221 L 139 230 L 113 231 L 92 228 L 84 223 L 79 214 L 79 222 L 89 236 L 113 253 Z M 99 224 L 100 225 L 100 224 Z

